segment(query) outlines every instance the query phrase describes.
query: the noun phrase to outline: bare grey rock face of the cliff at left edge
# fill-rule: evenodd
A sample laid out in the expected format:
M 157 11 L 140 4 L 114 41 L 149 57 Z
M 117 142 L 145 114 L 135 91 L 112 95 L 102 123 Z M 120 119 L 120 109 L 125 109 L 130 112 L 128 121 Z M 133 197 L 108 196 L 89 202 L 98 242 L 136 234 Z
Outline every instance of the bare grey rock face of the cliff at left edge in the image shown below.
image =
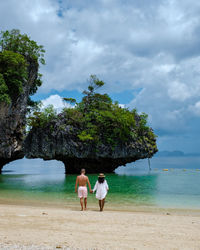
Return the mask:
M 24 157 L 27 101 L 39 66 L 36 61 L 27 63 L 28 80 L 24 80 L 21 94 L 11 104 L 0 103 L 0 172 L 5 164 Z

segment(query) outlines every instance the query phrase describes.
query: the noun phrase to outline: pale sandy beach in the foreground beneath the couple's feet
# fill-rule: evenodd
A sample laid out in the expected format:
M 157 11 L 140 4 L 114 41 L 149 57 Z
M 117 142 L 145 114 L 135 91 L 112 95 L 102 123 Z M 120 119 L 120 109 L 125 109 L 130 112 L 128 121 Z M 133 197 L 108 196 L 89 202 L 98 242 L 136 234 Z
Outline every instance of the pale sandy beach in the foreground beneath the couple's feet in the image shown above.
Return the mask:
M 200 249 L 200 211 L 0 205 L 1 249 Z

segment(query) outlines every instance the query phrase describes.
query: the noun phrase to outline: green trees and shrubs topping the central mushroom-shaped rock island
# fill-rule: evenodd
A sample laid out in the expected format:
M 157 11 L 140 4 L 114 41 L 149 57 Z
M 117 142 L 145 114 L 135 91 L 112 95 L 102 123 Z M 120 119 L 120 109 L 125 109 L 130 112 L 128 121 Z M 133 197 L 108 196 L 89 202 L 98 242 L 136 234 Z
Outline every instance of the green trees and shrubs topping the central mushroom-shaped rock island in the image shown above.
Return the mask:
M 76 128 L 74 135 L 83 143 L 115 147 L 132 140 L 141 140 L 142 143 L 144 139 L 156 147 L 156 136 L 147 125 L 147 115 L 139 115 L 135 109 L 122 108 L 117 102 L 113 103 L 107 94 L 97 93 L 97 89 L 103 85 L 103 81 L 91 75 L 88 89 L 83 92 L 84 97 L 80 103 L 72 98 L 64 98 L 64 101 L 76 103 L 75 106 L 64 108 L 58 115 L 55 115 L 52 107 L 35 112 L 29 117 L 29 126 L 48 127 L 53 121 L 64 117 L 66 126 Z M 63 124 L 61 129 L 64 129 Z

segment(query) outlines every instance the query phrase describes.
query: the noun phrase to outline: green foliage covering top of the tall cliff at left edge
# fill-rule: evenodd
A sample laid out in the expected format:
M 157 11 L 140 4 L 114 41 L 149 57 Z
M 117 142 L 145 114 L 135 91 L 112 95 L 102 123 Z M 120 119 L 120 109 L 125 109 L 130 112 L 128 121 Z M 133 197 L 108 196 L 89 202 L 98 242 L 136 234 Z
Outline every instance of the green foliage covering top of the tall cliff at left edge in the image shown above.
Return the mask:
M 43 46 L 31 40 L 19 30 L 0 33 L 0 102 L 10 104 L 23 92 L 23 84 L 28 80 L 30 67 L 38 69 L 39 62 L 45 64 Z M 36 70 L 38 71 L 38 70 Z M 41 86 L 42 75 L 37 76 L 29 91 L 28 105 L 34 106 L 30 95 Z

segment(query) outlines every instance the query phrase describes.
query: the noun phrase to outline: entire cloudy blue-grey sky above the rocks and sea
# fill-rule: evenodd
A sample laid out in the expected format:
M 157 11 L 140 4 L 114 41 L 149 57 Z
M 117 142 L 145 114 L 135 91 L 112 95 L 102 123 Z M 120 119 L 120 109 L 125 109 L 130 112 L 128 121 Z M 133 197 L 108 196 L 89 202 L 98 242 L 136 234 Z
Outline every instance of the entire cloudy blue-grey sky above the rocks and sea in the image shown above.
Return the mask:
M 80 100 L 90 74 L 126 107 L 149 115 L 160 150 L 200 150 L 200 2 L 1 0 L 1 30 L 46 49 L 34 99 Z

